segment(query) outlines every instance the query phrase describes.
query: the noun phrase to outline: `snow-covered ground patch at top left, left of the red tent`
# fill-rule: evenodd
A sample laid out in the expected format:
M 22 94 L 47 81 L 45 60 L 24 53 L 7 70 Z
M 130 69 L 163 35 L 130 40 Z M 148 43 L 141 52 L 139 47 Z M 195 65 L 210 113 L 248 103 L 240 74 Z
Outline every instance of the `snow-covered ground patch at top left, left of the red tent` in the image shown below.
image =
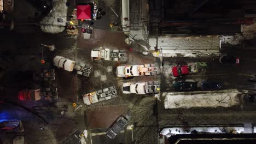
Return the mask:
M 57 18 L 60 16 L 67 16 L 67 0 L 53 0 L 53 10 L 51 13 L 44 17 L 40 21 L 41 29 L 45 33 L 60 33 L 64 31 L 66 26 L 66 17 L 63 17 L 65 21 L 58 22 Z

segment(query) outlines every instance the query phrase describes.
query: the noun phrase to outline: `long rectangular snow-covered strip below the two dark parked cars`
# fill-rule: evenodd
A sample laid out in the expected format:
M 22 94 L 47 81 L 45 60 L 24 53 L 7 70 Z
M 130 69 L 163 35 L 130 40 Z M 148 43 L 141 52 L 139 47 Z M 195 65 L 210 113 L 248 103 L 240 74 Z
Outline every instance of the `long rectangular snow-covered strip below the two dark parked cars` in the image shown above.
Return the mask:
M 190 107 L 231 107 L 241 103 L 241 92 L 237 89 L 222 91 L 165 93 L 165 109 Z

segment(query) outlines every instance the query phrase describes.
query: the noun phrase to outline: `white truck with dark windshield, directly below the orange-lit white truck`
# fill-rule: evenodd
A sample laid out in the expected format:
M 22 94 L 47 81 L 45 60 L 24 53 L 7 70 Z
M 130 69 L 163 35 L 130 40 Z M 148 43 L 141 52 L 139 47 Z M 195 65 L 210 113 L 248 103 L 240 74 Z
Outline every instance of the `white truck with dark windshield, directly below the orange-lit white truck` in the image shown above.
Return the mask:
M 123 84 L 123 93 L 130 94 L 158 94 L 160 91 L 160 83 L 158 81 L 148 82 L 126 82 Z

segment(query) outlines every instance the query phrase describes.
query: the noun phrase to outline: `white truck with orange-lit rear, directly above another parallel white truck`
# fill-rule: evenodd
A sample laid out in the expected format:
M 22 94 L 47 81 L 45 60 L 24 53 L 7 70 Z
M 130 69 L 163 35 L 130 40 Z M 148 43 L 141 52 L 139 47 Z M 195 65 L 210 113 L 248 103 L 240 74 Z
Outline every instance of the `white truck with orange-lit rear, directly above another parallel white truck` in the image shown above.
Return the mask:
M 158 74 L 156 64 L 125 65 L 117 67 L 118 77 L 146 76 Z

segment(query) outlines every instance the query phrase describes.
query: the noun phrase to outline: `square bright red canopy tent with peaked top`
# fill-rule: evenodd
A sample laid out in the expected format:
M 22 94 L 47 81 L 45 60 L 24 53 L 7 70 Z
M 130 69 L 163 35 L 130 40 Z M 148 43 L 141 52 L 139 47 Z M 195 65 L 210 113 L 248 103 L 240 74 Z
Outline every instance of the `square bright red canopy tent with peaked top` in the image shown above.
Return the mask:
M 77 5 L 77 19 L 91 20 L 91 5 Z

